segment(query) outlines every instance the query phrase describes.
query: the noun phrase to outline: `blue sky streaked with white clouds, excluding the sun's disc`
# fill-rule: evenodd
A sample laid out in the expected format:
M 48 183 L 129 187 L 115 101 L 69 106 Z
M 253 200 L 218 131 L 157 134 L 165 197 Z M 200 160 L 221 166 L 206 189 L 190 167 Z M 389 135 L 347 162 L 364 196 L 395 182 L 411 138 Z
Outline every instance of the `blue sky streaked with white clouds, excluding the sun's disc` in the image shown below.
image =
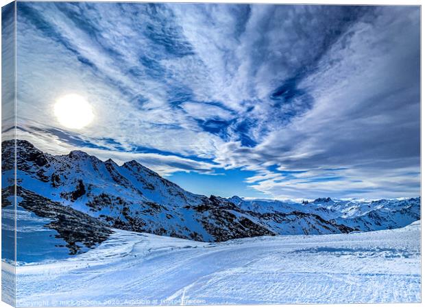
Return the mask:
M 18 136 L 250 198 L 420 195 L 418 6 L 17 3 Z M 84 129 L 54 116 L 85 97 Z

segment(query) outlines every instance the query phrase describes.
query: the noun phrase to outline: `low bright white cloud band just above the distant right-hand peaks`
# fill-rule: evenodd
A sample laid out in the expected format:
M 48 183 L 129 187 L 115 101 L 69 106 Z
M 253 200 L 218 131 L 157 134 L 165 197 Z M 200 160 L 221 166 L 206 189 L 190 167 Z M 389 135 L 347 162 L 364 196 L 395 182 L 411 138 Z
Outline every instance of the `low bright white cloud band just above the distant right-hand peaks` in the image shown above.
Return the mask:
M 364 170 L 345 170 L 325 172 L 311 170 L 308 174 L 285 178 L 280 174 L 271 174 L 268 178 L 250 185 L 251 188 L 267 192 L 275 198 L 314 199 L 318 196 L 332 198 L 400 198 L 400 196 L 417 196 L 417 183 L 420 172 L 417 168 L 396 168 L 384 174 L 363 172 Z M 248 181 L 250 183 L 251 181 Z M 391 187 L 391 191 L 383 188 Z M 341 189 L 343 188 L 343 189 Z M 302 192 L 302 194 L 300 194 Z

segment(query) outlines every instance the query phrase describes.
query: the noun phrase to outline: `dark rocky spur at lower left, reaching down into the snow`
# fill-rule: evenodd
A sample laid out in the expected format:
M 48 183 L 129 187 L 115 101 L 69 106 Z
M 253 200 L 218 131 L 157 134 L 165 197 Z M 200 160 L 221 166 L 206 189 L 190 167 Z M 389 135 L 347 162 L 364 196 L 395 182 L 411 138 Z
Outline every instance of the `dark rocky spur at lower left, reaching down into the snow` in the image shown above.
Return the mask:
M 14 187 L 3 188 L 1 193 L 2 207 L 11 205 L 7 199 L 13 196 Z M 60 205 L 20 186 L 16 188 L 16 196 L 21 198 L 19 205 L 24 209 L 32 211 L 37 216 L 53 220 L 45 227 L 59 233 L 56 237 L 62 238 L 67 243 L 66 247 L 69 248 L 71 255 L 81 252 L 82 247 L 78 243 L 91 248 L 107 240 L 113 232 L 104 223 L 87 214 Z

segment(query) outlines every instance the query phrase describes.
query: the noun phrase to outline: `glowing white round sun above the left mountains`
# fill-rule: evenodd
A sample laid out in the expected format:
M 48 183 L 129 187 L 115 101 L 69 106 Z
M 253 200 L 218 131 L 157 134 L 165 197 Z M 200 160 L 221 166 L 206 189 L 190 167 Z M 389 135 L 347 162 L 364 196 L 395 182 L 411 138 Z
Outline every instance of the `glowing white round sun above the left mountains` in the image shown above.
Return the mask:
M 67 94 L 56 101 L 54 107 L 56 118 L 60 124 L 70 129 L 82 129 L 94 118 L 88 101 L 77 94 Z

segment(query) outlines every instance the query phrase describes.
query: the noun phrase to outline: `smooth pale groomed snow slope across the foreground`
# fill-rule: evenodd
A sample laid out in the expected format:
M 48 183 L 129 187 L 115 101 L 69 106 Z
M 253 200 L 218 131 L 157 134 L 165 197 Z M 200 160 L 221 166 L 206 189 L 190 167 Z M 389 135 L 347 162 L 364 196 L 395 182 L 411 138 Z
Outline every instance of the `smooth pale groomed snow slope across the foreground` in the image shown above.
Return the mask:
M 17 305 L 420 302 L 419 239 L 419 221 L 221 243 L 115 229 L 82 255 L 18 266 Z

